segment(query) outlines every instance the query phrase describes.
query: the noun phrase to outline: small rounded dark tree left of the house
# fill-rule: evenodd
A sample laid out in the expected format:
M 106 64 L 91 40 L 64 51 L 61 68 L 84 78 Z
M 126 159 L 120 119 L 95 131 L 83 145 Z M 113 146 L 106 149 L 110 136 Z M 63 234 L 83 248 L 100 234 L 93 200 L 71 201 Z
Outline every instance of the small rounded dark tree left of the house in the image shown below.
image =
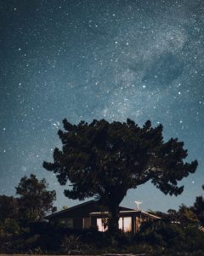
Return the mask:
M 31 174 L 31 177 L 22 177 L 16 189 L 16 195 L 20 195 L 20 216 L 26 220 L 42 219 L 46 213 L 54 212 L 56 207 L 53 201 L 56 199 L 56 192 L 48 191 L 48 183 L 43 178 L 38 180 Z

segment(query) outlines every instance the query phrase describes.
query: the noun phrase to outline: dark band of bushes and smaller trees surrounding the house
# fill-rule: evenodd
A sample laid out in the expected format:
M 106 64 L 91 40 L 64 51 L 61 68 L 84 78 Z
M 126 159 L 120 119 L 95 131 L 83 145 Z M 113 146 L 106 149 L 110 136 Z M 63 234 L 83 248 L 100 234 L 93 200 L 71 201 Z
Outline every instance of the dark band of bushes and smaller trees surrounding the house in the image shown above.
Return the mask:
M 49 224 L 43 217 L 56 209 L 55 192 L 35 175 L 22 177 L 17 197 L 0 195 L 0 253 L 147 253 L 175 255 L 175 252 L 201 255 L 204 251 L 204 200 L 195 198 L 192 207 L 178 211 L 152 212 L 161 220 L 143 224 L 131 236 L 119 231 L 69 230 L 62 224 Z M 172 253 L 172 254 L 171 254 Z M 188 254 L 185 254 L 188 255 Z

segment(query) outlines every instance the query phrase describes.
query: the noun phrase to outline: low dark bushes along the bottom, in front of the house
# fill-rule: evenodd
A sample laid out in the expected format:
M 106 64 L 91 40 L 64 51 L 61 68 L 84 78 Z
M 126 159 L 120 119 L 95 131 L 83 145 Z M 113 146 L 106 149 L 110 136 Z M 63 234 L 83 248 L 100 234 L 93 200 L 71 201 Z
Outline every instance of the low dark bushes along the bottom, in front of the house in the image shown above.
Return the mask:
M 192 255 L 204 252 L 204 233 L 201 230 L 169 222 L 143 227 L 135 236 L 122 232 L 112 236 L 95 229 L 68 230 L 48 223 L 32 224 L 19 235 L 4 235 L 0 233 L 0 253 L 175 255 L 175 252 L 189 252 Z

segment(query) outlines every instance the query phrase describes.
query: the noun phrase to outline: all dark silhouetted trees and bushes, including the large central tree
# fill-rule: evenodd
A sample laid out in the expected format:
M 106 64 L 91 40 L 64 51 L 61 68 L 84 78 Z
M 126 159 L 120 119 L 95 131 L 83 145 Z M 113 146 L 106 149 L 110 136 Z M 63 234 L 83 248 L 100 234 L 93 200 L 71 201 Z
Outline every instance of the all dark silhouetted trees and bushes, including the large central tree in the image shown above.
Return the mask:
M 142 223 L 135 235 L 117 229 L 118 207 L 128 189 L 149 180 L 165 194 L 179 195 L 178 181 L 195 172 L 196 160 L 184 163 L 187 150 L 177 139 L 163 142 L 162 126 L 142 128 L 126 123 L 94 120 L 71 125 L 64 120 L 59 131 L 62 150 L 55 148 L 54 163 L 43 166 L 56 173 L 60 184 L 68 180 L 72 199 L 96 196 L 109 207 L 107 232 L 96 228 L 68 229 L 43 218 L 54 212 L 55 191 L 45 179 L 22 177 L 17 197 L 0 195 L 0 253 L 100 254 L 145 253 L 145 255 L 202 255 L 204 252 L 204 199 L 192 207 L 151 212 L 161 219 Z

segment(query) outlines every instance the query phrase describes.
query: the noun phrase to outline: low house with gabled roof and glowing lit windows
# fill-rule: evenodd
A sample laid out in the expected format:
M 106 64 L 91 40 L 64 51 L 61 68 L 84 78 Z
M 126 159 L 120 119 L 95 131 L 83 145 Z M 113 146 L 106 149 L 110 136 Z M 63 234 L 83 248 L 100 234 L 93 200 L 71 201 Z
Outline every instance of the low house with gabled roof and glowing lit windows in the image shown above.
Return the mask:
M 127 207 L 120 207 L 119 211 L 119 229 L 133 234 L 139 231 L 142 223 L 160 219 L 148 212 Z M 99 204 L 98 201 L 92 200 L 60 212 L 54 212 L 45 219 L 49 222 L 65 224 L 65 227 L 71 229 L 98 227 L 99 231 L 105 231 L 104 221 L 108 216 L 108 208 Z

